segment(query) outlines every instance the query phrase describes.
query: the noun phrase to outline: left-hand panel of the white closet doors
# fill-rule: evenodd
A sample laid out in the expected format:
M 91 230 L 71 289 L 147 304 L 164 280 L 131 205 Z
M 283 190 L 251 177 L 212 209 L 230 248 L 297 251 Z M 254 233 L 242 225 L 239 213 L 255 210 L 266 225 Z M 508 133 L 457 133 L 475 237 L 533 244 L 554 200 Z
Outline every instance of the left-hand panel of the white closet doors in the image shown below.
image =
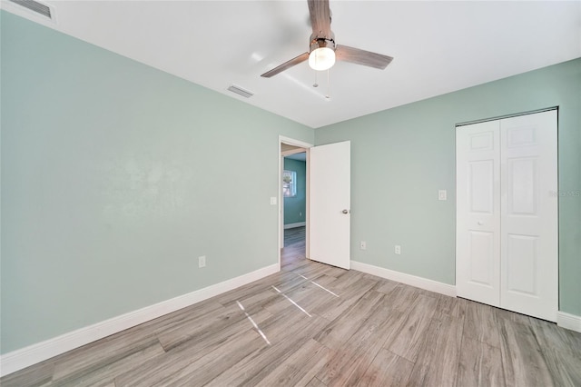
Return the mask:
M 499 306 L 499 124 L 460 126 L 456 135 L 456 290 L 460 297 Z

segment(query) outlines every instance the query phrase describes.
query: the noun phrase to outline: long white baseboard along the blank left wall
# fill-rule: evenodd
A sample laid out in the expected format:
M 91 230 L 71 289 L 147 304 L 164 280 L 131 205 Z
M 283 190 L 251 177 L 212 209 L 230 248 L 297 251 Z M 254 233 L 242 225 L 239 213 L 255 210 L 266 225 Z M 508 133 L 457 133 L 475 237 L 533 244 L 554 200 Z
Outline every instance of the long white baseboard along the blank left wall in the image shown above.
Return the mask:
M 140 323 L 146 323 L 167 313 L 200 303 L 215 295 L 236 289 L 281 270 L 280 264 L 275 263 L 251 273 L 242 274 L 222 283 L 215 283 L 206 288 L 180 295 L 162 303 L 155 303 L 137 311 L 124 313 L 101 323 L 86 326 L 73 332 L 67 332 L 53 339 L 38 342 L 28 347 L 8 352 L 0 357 L 0 376 L 22 370 L 37 362 L 43 362 L 61 353 L 74 350 L 80 346 L 94 342 L 103 337 L 121 332 Z

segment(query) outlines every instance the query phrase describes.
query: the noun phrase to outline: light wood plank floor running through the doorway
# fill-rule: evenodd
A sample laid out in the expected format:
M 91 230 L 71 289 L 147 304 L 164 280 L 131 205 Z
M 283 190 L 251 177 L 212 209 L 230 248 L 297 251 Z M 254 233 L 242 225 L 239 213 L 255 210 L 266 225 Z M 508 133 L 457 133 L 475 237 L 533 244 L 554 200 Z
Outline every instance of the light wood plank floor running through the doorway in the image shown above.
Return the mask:
M 307 261 L 301 232 L 281 273 L 2 386 L 581 386 L 581 333 Z

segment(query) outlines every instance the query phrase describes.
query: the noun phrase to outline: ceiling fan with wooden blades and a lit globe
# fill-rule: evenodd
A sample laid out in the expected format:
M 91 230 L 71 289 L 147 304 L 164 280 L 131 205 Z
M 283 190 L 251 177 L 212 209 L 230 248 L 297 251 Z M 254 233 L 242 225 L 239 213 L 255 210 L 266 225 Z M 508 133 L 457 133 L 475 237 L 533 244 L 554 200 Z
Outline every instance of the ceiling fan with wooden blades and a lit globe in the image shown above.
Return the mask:
M 261 76 L 270 78 L 306 60 L 309 60 L 312 69 L 318 71 L 330 69 L 335 65 L 336 60 L 381 70 L 391 63 L 393 58 L 388 55 L 372 53 L 348 45 L 335 45 L 335 34 L 330 30 L 329 0 L 308 0 L 308 3 L 310 25 L 312 25 L 309 51 L 274 67 Z

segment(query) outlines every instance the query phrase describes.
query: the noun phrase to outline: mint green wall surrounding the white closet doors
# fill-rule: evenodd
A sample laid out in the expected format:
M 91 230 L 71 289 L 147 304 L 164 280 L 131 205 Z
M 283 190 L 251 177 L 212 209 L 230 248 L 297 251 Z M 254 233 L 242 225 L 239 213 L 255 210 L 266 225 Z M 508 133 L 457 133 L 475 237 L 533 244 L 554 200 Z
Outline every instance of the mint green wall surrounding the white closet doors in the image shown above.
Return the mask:
M 556 105 L 559 189 L 578 193 L 581 59 L 317 129 L 315 144 L 351 141 L 351 259 L 455 283 L 455 124 Z M 559 282 L 560 310 L 581 315 L 578 195 L 559 202 Z

